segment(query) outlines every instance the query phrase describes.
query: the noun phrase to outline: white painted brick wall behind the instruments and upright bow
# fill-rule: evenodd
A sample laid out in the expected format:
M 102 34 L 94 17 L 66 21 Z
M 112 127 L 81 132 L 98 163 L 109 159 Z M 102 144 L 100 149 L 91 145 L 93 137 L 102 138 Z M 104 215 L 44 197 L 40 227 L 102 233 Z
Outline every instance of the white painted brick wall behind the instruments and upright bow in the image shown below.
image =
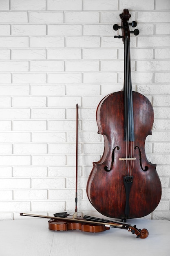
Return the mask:
M 146 140 L 162 199 L 146 218 L 170 219 L 170 1 L 0 1 L 0 220 L 22 211 L 75 208 L 75 126 L 79 105 L 78 210 L 93 213 L 86 182 L 103 153 L 99 101 L 122 89 L 124 45 L 113 24 L 128 8 L 132 87 L 153 104 Z

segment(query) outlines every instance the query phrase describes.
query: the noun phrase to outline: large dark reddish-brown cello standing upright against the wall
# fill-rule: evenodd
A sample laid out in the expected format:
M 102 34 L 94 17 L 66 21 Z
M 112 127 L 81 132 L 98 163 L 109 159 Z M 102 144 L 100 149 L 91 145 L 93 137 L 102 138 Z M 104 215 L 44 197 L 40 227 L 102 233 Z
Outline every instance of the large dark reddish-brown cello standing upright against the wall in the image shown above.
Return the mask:
M 148 162 L 145 140 L 152 134 L 154 112 L 150 101 L 132 91 L 128 9 L 120 14 L 124 43 L 124 90 L 104 97 L 97 106 L 98 133 L 104 137 L 104 153 L 88 177 L 89 201 L 102 215 L 111 218 L 140 218 L 150 214 L 161 200 L 161 182 L 156 164 Z

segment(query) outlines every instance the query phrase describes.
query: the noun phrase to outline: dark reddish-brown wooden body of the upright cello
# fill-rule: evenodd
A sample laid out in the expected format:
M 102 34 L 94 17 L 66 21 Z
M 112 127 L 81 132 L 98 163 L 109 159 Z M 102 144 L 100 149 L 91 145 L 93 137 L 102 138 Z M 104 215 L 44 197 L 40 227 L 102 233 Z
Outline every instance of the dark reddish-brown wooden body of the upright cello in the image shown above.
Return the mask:
M 138 92 L 132 92 L 132 98 L 135 141 L 133 149 L 130 144 L 130 152 L 134 151 L 135 160 L 128 160 L 128 164 L 133 162 L 133 182 L 128 202 L 124 186 L 127 161 L 119 160 L 126 157 L 124 91 L 109 94 L 97 107 L 98 133 L 104 136 L 105 147 L 100 161 L 93 162 L 87 182 L 87 195 L 97 211 L 111 218 L 127 218 L 127 203 L 128 218 L 146 216 L 161 199 L 161 182 L 156 164 L 148 162 L 144 149 L 145 139 L 151 135 L 153 108 L 150 101 Z

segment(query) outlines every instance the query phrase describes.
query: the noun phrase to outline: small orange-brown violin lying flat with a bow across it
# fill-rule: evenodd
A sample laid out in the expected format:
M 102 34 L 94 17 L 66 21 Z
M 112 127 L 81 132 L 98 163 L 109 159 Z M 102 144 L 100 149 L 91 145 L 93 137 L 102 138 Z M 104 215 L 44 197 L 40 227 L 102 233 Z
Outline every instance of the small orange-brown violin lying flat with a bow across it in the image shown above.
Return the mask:
M 100 218 L 95 218 L 93 216 L 84 216 L 83 218 L 66 218 L 66 217 L 50 217 L 44 215 L 36 214 L 27 214 L 20 213 L 21 216 L 29 217 L 39 217 L 39 218 L 48 218 L 49 220 L 49 229 L 55 231 L 67 231 L 67 230 L 81 230 L 86 232 L 102 232 L 110 229 L 110 227 L 127 229 L 131 231 L 132 234 L 136 234 L 137 238 L 146 238 L 148 237 L 147 229 L 137 229 L 136 225 L 132 226 L 130 224 L 121 223 L 118 221 L 105 220 Z

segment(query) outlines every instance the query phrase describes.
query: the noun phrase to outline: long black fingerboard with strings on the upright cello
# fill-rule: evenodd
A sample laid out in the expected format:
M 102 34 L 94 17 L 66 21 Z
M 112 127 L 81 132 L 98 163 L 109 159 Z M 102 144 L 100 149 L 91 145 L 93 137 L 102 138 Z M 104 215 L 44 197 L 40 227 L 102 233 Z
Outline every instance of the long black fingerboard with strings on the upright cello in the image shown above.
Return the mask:
M 130 65 L 130 40 L 128 36 L 124 41 L 124 112 L 124 141 L 135 141 Z

